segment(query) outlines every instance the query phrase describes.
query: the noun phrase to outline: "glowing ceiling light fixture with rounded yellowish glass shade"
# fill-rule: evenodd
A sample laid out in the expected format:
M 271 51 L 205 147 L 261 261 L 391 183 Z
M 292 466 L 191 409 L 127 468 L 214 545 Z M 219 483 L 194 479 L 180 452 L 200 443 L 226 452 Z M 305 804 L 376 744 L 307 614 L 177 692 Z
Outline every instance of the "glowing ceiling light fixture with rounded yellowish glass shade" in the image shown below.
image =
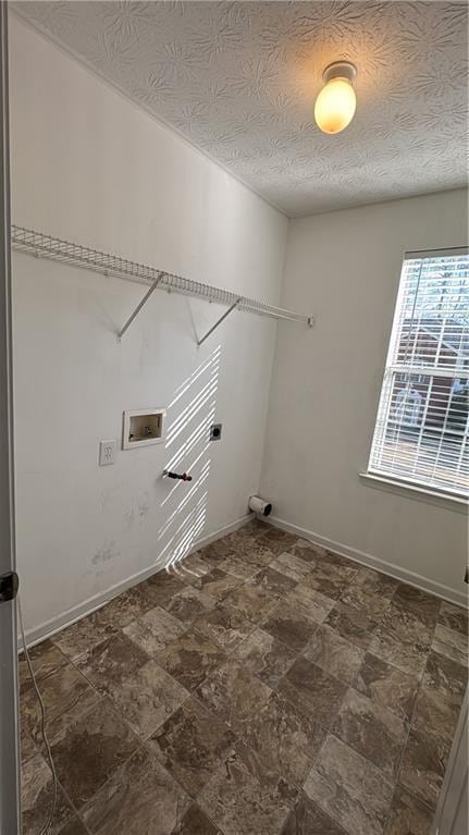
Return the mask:
M 357 107 L 354 90 L 357 67 L 349 61 L 334 61 L 322 77 L 324 86 L 314 105 L 316 124 L 323 133 L 338 134 L 350 124 Z

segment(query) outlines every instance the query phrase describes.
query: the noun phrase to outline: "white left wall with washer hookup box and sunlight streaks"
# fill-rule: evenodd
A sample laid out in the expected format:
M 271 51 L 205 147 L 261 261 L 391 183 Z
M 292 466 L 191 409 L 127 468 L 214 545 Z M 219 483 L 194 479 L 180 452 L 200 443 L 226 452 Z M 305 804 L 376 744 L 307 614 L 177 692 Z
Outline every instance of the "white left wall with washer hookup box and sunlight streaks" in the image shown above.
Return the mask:
M 14 16 L 10 39 L 15 223 L 277 302 L 282 214 Z M 200 335 L 222 308 L 156 293 L 118 344 L 145 287 L 21 254 L 13 283 L 17 560 L 37 636 L 244 517 L 276 326 L 235 312 L 198 349 L 194 327 Z M 122 412 L 150 406 L 169 408 L 173 431 L 182 419 L 171 445 L 98 467 Z M 206 449 L 213 416 L 223 440 Z M 200 456 L 194 491 L 172 492 L 160 474 L 197 427 L 174 465 Z

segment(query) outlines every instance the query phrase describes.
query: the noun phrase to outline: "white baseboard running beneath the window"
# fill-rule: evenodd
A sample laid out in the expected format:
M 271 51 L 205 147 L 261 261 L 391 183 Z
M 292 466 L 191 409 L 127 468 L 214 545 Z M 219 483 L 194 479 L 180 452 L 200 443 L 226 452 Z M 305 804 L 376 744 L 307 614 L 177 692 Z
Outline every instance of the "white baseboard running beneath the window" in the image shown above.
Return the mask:
M 407 582 L 409 586 L 415 586 L 422 591 L 428 591 L 431 594 L 435 594 L 443 600 L 448 600 L 451 603 L 456 603 L 457 605 L 464 606 L 465 609 L 468 607 L 467 595 L 461 591 L 452 589 L 449 586 L 444 586 L 441 582 L 434 582 L 434 580 L 430 580 L 428 577 L 422 577 L 420 574 L 409 572 L 407 568 L 402 568 L 399 565 L 394 565 L 394 563 L 387 563 L 385 560 L 380 560 L 379 556 L 367 554 L 365 551 L 359 551 L 358 549 L 351 548 L 350 545 L 345 545 L 343 542 L 335 542 L 333 539 L 322 537 L 319 533 L 314 533 L 312 530 L 300 528 L 298 525 L 291 525 L 289 521 L 285 521 L 285 519 L 279 519 L 276 516 L 270 516 L 269 523 L 271 523 L 275 528 L 281 528 L 282 530 L 286 530 L 289 533 L 295 533 L 295 536 L 300 537 L 301 539 L 307 539 L 317 545 L 322 545 L 322 548 L 326 548 L 330 551 L 335 551 L 337 554 L 348 556 L 356 563 L 367 565 L 369 568 L 374 568 L 377 572 L 381 572 L 382 574 L 387 574 L 390 577 L 394 577 L 396 580 Z

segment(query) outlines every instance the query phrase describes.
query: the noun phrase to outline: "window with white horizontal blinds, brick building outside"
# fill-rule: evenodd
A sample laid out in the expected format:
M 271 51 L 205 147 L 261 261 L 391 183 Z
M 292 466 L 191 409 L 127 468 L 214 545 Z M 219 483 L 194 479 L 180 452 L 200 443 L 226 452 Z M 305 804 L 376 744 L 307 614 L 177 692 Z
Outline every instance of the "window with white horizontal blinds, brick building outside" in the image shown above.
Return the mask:
M 469 496 L 469 256 L 406 255 L 370 475 Z

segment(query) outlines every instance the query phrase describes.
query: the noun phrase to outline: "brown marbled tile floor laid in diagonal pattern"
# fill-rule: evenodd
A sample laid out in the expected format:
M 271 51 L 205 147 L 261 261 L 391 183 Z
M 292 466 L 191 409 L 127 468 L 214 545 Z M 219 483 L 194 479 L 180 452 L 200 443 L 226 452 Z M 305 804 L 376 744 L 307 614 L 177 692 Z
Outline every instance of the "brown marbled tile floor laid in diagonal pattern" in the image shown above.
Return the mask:
M 54 835 L 427 835 L 467 614 L 254 523 L 32 655 Z M 52 799 L 21 660 L 23 813 Z

